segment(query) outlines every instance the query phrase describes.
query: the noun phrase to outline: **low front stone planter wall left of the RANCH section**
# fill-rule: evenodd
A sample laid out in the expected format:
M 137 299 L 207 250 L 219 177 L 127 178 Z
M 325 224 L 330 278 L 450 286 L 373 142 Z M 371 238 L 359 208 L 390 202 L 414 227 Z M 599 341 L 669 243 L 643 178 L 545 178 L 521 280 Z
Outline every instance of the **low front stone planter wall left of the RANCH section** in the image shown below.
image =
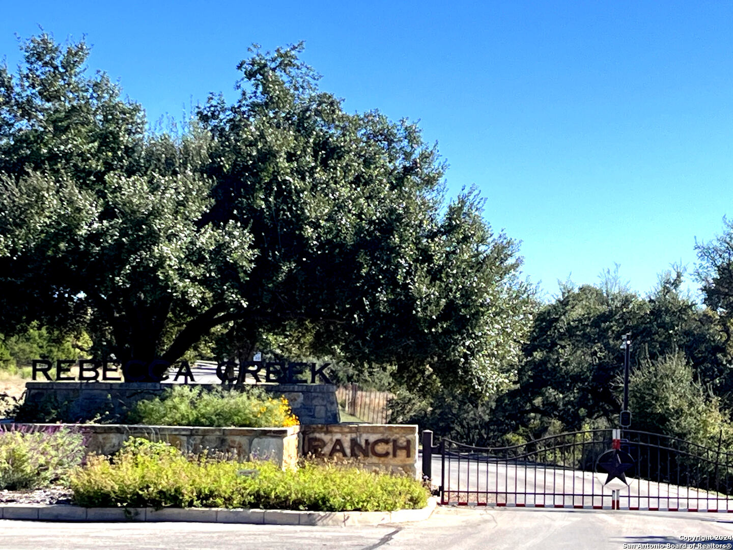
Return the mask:
M 282 468 L 298 463 L 298 432 L 290 428 L 197 428 L 188 426 L 138 426 L 123 424 L 5 424 L 0 430 L 43 430 L 67 427 L 84 434 L 86 450 L 111 455 L 130 437 L 165 441 L 183 452 L 217 450 L 235 453 L 241 461 L 270 460 Z

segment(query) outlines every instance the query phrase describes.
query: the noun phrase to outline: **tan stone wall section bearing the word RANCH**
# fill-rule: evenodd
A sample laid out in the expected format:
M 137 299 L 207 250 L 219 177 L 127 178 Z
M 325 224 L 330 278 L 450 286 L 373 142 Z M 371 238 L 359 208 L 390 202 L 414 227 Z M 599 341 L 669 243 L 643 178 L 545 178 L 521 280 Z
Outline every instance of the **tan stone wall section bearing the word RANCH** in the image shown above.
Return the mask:
M 307 425 L 301 427 L 300 439 L 303 456 L 420 478 L 416 425 Z

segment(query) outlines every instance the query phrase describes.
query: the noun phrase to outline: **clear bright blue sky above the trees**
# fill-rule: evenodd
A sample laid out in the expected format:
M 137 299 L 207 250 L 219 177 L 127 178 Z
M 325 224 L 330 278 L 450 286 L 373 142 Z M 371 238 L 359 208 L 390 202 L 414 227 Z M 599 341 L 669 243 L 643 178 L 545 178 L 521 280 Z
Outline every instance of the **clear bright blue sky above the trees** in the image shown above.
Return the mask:
M 276 6 L 276 7 L 271 7 Z M 419 120 L 475 184 L 523 271 L 597 282 L 620 264 L 641 293 L 733 216 L 733 3 L 0 1 L 0 54 L 38 25 L 86 34 L 90 69 L 151 120 L 208 92 L 235 98 L 251 43 L 306 41 L 348 111 Z M 692 284 L 692 286 L 694 286 Z

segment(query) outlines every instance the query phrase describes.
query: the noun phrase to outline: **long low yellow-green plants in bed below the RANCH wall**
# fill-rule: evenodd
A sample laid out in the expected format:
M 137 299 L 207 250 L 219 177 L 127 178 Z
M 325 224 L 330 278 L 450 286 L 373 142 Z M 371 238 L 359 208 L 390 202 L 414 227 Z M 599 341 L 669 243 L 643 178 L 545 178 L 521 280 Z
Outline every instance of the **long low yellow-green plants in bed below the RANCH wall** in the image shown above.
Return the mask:
M 130 439 L 113 458 L 89 457 L 70 477 L 86 507 L 228 507 L 283 510 L 400 510 L 427 505 L 409 477 L 304 463 L 238 463 L 185 456 L 169 444 Z

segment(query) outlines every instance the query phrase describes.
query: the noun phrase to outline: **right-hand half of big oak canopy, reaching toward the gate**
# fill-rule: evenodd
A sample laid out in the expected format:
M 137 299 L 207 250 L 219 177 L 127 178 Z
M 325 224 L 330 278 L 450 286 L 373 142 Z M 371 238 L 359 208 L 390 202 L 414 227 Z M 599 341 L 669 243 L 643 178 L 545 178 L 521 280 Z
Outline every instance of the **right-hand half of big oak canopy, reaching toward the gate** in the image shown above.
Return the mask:
M 199 111 L 218 182 L 210 216 L 248 223 L 259 250 L 230 341 L 246 359 L 262 333 L 306 326 L 299 353 L 394 364 L 423 391 L 435 374 L 496 389 L 528 314 L 515 243 L 492 234 L 473 194 L 441 216 L 435 147 L 406 121 L 345 113 L 300 50 L 255 52 L 240 100 Z

